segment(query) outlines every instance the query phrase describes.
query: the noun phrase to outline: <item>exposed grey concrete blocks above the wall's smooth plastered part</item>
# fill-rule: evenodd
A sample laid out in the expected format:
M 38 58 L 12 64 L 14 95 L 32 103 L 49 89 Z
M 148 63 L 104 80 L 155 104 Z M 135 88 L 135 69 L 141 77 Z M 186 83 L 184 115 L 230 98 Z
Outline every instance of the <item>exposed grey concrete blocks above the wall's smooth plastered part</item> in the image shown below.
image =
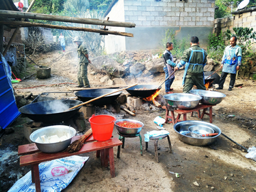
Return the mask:
M 137 26 L 213 26 L 214 0 L 124 0 L 125 21 Z

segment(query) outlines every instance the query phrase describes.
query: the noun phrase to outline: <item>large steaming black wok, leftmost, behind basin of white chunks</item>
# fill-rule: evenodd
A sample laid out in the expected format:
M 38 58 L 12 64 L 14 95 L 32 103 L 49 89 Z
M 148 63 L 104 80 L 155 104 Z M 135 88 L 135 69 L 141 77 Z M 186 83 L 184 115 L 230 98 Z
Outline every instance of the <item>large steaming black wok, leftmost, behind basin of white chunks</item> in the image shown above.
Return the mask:
M 26 117 L 36 122 L 62 122 L 65 119 L 73 117 L 73 115 L 75 115 L 82 106 L 73 110 L 68 109 L 81 103 L 82 102 L 77 100 L 50 100 L 44 102 L 35 102 L 21 107 L 19 112 L 25 114 Z M 65 110 L 68 111 L 65 112 Z

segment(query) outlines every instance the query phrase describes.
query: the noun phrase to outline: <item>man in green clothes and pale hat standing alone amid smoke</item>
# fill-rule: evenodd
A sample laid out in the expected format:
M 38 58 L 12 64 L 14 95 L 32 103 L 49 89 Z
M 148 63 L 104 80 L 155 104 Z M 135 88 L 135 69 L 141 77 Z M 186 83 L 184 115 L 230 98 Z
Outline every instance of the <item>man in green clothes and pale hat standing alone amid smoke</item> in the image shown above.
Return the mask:
M 75 37 L 74 41 L 78 46 L 79 70 L 78 70 L 78 87 L 89 88 L 90 83 L 87 78 L 87 66 L 91 61 L 89 60 L 88 50 L 80 38 Z

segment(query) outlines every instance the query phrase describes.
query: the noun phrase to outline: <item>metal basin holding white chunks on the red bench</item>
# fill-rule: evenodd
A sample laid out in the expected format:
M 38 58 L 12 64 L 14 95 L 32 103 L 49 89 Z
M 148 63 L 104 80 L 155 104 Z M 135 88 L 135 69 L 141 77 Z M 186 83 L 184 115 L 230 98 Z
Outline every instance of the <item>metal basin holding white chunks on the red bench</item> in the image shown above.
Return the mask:
M 63 142 L 55 142 L 55 143 L 39 143 L 36 142 L 38 137 L 46 135 L 46 137 L 50 137 L 53 135 L 57 135 L 58 137 L 63 137 L 64 135 L 70 134 L 70 138 L 66 139 Z M 66 125 L 53 125 L 48 127 L 43 127 L 41 129 L 36 130 L 30 135 L 30 139 L 32 142 L 36 143 L 36 146 L 40 151 L 45 153 L 57 153 L 65 150 L 71 143 L 72 137 L 74 137 L 76 131 L 73 127 L 68 127 Z

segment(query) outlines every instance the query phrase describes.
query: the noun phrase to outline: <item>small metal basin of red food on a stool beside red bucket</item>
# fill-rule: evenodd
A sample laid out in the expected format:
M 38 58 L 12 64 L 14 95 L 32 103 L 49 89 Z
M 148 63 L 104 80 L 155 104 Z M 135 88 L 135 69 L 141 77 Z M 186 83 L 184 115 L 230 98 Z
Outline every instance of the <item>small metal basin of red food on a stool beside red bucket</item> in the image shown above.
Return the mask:
M 121 127 L 121 126 L 117 125 L 119 122 L 134 122 L 134 123 L 139 123 L 142 126 L 138 127 L 138 128 Z M 144 124 L 142 122 L 139 122 L 134 119 L 119 119 L 114 122 L 114 125 L 117 127 L 117 131 L 120 134 L 139 134 L 139 132 L 142 131 L 142 127 L 144 127 Z

